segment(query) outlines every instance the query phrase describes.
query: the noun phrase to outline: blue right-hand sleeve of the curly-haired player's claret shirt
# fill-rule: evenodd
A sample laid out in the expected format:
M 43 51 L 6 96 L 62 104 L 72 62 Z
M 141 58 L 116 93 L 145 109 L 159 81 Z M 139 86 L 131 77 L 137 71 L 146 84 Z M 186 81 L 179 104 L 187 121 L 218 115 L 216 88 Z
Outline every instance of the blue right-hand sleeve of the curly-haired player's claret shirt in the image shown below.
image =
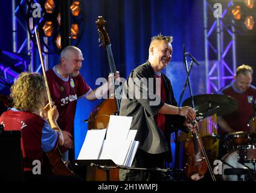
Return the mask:
M 59 144 L 59 134 L 50 127 L 48 122 L 43 125 L 41 142 L 42 150 L 45 152 L 54 150 Z

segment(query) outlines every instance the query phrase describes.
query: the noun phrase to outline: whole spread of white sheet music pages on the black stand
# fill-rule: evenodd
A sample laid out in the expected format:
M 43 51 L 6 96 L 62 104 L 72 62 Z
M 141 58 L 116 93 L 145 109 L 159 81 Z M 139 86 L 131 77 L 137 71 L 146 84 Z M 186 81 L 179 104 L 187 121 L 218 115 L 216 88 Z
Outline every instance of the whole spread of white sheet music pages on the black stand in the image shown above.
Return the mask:
M 131 166 L 139 145 L 131 124 L 132 117 L 111 115 L 107 129 L 88 131 L 78 159 L 111 159 L 117 165 Z

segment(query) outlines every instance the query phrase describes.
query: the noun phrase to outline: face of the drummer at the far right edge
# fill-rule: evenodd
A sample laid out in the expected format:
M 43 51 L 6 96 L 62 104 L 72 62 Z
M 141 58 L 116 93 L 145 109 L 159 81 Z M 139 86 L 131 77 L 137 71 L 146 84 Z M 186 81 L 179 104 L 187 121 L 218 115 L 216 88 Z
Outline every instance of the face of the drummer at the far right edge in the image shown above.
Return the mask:
M 246 90 L 249 89 L 252 83 L 252 75 L 249 73 L 243 74 L 239 73 L 237 76 L 235 76 L 235 87 L 240 91 L 240 92 L 245 92 Z

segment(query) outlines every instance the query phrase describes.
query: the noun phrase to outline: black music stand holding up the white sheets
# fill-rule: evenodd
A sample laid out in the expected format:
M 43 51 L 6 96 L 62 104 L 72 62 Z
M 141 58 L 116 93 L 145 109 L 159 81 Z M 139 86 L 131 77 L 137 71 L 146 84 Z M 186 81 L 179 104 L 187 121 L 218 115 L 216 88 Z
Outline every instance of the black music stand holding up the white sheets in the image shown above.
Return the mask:
M 117 168 L 117 165 L 112 159 L 75 159 L 74 162 L 80 166 L 95 166 L 98 169 L 103 169 L 106 172 L 106 181 L 109 181 L 109 169 Z

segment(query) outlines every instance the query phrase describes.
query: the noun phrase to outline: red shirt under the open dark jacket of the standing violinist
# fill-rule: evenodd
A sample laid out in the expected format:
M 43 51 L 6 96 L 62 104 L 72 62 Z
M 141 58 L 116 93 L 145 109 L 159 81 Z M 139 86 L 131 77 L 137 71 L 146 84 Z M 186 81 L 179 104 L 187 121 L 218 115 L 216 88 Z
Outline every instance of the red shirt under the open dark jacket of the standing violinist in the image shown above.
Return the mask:
M 161 75 L 157 75 L 155 72 L 156 77 L 156 94 L 161 96 L 162 101 L 164 103 L 166 102 L 166 96 L 165 96 L 165 89 L 164 89 L 164 80 L 162 79 Z M 160 87 L 159 87 L 160 86 Z M 164 133 L 165 129 L 165 115 L 162 113 L 158 113 L 155 116 L 156 125 L 162 130 Z

